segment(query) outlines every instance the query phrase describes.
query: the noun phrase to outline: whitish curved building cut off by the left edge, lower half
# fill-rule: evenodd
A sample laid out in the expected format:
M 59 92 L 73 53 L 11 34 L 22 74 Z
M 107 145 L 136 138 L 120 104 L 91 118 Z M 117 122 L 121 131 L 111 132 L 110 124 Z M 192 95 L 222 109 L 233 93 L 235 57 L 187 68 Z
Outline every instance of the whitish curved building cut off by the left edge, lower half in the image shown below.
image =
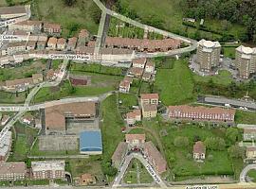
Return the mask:
M 12 144 L 11 131 L 8 131 L 0 141 L 0 162 L 1 161 L 5 162 L 8 159 L 11 144 Z

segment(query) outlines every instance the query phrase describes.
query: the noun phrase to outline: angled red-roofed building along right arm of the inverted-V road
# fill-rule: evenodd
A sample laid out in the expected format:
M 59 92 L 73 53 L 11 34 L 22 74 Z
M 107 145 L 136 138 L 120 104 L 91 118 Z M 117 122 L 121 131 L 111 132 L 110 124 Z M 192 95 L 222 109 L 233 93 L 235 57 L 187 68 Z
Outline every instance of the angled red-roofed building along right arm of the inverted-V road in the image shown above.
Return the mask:
M 144 155 L 159 174 L 167 170 L 167 162 L 151 141 L 144 144 Z

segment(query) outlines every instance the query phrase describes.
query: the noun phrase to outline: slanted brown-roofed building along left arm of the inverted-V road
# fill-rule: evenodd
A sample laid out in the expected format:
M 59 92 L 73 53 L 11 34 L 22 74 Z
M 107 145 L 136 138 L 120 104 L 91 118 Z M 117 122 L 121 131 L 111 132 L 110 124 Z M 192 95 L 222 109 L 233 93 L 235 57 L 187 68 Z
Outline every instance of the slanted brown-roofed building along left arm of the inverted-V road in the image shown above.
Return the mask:
M 124 159 L 128 149 L 128 144 L 125 142 L 120 142 L 119 146 L 116 148 L 114 154 L 111 157 L 112 165 L 119 168 L 121 161 Z

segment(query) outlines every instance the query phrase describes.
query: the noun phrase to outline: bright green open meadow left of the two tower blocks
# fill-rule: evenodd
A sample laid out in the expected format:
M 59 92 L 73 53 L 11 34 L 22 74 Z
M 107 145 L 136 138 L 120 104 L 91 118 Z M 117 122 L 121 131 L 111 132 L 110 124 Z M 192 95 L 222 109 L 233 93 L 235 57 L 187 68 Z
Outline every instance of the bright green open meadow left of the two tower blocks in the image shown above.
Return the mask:
M 192 73 L 186 60 L 174 61 L 173 69 L 158 69 L 155 86 L 165 105 L 182 104 L 194 99 Z

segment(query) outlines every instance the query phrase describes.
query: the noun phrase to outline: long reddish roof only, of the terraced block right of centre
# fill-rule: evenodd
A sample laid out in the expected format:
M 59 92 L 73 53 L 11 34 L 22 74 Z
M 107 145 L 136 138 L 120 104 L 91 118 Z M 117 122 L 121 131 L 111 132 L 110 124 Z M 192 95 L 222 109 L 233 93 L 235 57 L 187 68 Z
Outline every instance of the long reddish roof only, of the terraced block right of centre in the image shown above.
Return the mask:
M 233 109 L 224 109 L 219 107 L 203 107 L 203 106 L 188 106 L 188 105 L 181 105 L 181 106 L 169 106 L 168 107 L 170 112 L 204 112 L 204 113 L 218 113 L 218 114 L 235 114 L 235 110 Z

